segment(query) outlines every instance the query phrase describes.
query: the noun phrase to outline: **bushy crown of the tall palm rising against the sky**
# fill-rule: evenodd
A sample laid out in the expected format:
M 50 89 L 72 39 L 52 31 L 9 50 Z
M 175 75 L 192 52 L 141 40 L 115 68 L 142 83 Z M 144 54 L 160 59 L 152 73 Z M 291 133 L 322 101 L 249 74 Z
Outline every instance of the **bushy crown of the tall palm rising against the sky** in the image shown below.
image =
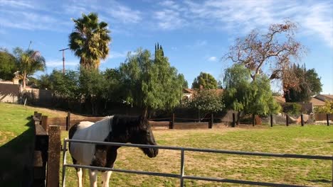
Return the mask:
M 109 53 L 110 30 L 107 23 L 98 23 L 97 13 L 82 16 L 73 19 L 75 30 L 69 35 L 69 47 L 80 57 L 81 67 L 98 69 L 100 60 L 105 60 Z

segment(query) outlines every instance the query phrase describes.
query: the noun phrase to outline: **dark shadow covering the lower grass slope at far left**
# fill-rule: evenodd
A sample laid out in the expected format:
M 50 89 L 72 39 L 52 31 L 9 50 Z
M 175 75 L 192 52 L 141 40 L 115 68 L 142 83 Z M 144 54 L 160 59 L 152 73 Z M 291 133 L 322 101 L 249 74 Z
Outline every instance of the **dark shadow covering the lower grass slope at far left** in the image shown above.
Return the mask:
M 29 186 L 33 176 L 34 125 L 0 147 L 0 186 Z

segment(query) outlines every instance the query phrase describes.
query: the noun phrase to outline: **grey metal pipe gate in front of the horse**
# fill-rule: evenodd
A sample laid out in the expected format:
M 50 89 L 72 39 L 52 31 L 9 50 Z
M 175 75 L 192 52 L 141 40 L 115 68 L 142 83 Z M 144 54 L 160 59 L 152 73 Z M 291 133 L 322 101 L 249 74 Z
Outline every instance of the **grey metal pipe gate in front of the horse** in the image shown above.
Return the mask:
M 94 144 L 94 145 L 112 145 L 112 146 L 124 146 L 124 147 L 142 147 L 142 148 L 159 148 L 159 149 L 169 149 L 169 150 L 178 150 L 180 151 L 181 157 L 181 166 L 179 174 L 168 174 L 160 172 L 150 172 L 150 171 L 136 171 L 136 170 L 127 170 L 127 169 L 111 169 L 105 167 L 97 166 L 86 166 L 78 164 L 67 164 L 66 155 L 67 155 L 67 143 L 68 142 L 77 142 L 84 144 Z M 66 167 L 74 168 L 84 168 L 84 169 L 96 169 L 102 171 L 115 171 L 129 174 L 143 174 L 149 176 L 163 176 L 171 177 L 180 180 L 180 186 L 184 186 L 184 179 L 191 180 L 200 180 L 200 181 L 215 181 L 220 183 L 237 183 L 237 184 L 247 184 L 247 185 L 256 185 L 256 186 L 296 186 L 290 184 L 282 183 L 268 183 L 260 181 L 244 181 L 237 179 L 221 179 L 221 178 L 212 178 L 204 176 L 188 176 L 185 175 L 185 152 L 207 152 L 207 153 L 216 153 L 216 154 L 236 154 L 236 155 L 250 155 L 250 156 L 261 156 L 261 157 L 282 157 L 282 158 L 295 158 L 295 159 L 319 159 L 319 160 L 329 160 L 332 161 L 332 186 L 333 186 L 333 156 L 319 156 L 319 155 L 305 155 L 305 154 L 277 154 L 277 153 L 266 153 L 266 152 L 240 152 L 240 151 L 231 151 L 231 150 L 218 150 L 218 149 L 197 149 L 189 147 L 171 147 L 171 146 L 157 146 L 157 145 L 137 145 L 137 144 L 124 144 L 116 142 L 94 142 L 94 141 L 85 141 L 85 140 L 63 140 L 63 176 L 62 183 L 65 187 L 65 171 Z

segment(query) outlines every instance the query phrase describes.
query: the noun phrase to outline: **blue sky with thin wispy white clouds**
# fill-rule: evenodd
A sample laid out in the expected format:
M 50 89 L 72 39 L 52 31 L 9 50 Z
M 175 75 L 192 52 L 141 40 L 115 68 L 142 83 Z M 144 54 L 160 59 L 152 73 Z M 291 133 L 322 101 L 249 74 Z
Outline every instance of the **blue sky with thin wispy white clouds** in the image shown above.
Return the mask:
M 62 53 L 74 28 L 70 18 L 96 12 L 109 24 L 110 55 L 100 69 L 119 67 L 127 52 L 163 46 L 172 66 L 191 86 L 200 72 L 222 79 L 230 62 L 221 58 L 233 41 L 253 28 L 265 33 L 271 23 L 289 18 L 299 25 L 297 40 L 307 47 L 307 69 L 322 77 L 323 94 L 333 94 L 333 1 L 8 1 L 0 0 L 0 47 L 39 50 L 46 72 L 62 69 Z M 66 69 L 79 59 L 65 51 Z M 37 76 L 38 76 L 37 74 Z M 277 91 L 278 84 L 273 82 Z

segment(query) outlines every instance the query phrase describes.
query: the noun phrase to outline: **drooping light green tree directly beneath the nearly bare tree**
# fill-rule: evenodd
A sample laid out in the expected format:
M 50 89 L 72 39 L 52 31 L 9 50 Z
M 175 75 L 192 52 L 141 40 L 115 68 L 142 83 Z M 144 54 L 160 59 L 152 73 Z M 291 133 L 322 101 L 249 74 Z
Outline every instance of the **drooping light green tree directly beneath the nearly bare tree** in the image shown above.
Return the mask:
M 226 108 L 245 114 L 265 115 L 277 113 L 280 106 L 270 91 L 270 80 L 265 76 L 258 76 L 251 81 L 250 70 L 241 64 L 234 64 L 226 69 L 223 79 L 226 87 L 223 92 Z

